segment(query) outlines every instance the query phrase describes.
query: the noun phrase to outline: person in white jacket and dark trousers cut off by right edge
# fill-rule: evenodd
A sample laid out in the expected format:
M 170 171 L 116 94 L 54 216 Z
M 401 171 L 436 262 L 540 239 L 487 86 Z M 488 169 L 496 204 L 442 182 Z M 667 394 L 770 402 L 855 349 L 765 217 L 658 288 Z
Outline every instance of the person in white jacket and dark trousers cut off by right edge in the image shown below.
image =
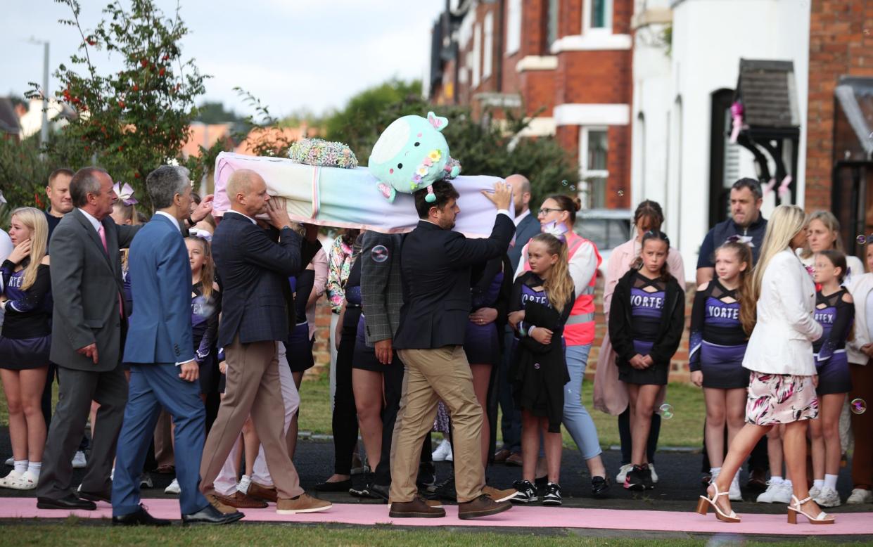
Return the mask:
M 849 373 L 852 391 L 849 399 L 873 402 L 873 244 L 867 245 L 867 271 L 856 275 L 849 284 L 849 293 L 855 300 L 855 339 L 850 340 Z M 846 503 L 873 502 L 873 413 L 855 413 L 849 416 L 855 434 L 855 453 L 852 455 L 852 493 Z

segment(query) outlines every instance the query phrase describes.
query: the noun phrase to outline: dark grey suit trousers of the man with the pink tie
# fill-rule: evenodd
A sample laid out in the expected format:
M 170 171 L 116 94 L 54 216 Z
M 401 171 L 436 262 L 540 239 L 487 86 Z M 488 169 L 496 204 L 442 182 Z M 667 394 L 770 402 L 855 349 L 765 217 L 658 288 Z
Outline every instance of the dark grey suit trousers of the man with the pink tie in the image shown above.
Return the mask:
M 72 494 L 72 456 L 82 441 L 92 400 L 100 403 L 100 409 L 82 489 L 105 492 L 111 486 L 109 475 L 127 403 L 124 371 L 120 366 L 106 373 L 58 366 L 58 408 L 45 442 L 37 496 L 59 499 Z

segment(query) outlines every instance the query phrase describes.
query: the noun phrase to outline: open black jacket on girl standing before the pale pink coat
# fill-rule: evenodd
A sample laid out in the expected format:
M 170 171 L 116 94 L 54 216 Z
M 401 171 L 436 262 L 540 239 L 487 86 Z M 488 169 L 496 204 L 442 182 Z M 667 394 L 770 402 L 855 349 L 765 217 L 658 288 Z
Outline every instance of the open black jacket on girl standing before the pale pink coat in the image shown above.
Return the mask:
M 634 351 L 633 318 L 630 314 L 630 287 L 636 270 L 629 270 L 618 280 L 609 305 L 609 341 L 615 350 L 615 363 L 630 366 Z M 670 359 L 676 353 L 685 329 L 685 291 L 670 277 L 664 291 L 663 320 L 657 332 L 655 345 L 650 352 L 653 366 L 670 366 Z

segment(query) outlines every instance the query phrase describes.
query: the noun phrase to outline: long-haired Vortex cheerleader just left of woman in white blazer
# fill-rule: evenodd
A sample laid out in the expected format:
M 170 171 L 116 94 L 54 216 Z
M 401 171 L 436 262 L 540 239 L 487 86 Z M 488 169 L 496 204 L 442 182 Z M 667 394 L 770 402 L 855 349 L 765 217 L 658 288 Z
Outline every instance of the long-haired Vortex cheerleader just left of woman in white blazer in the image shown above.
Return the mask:
M 691 382 L 703 386 L 706 402 L 706 452 L 711 480 L 718 478 L 727 441 L 746 420 L 746 386 L 749 373 L 743 368 L 748 333 L 754 328 L 755 303 L 751 300 L 752 250 L 728 242 L 715 251 L 716 278 L 702 284 L 691 309 Z M 739 476 L 734 475 L 729 496 L 742 501 Z

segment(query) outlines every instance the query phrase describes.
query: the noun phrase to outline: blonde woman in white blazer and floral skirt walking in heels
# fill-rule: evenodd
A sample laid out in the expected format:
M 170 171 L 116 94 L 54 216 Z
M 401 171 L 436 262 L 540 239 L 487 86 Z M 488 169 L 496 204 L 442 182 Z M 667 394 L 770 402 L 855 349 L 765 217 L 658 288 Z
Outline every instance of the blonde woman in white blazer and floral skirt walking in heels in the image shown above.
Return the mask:
M 809 497 L 807 488 L 807 421 L 818 415 L 812 342 L 821 337 L 813 318 L 815 285 L 794 250 L 806 243 L 806 215 L 794 205 L 780 205 L 767 224 L 753 274 L 758 323 L 746 349 L 743 367 L 751 371 L 746 426 L 731 443 L 721 474 L 700 496 L 698 512 L 712 507 L 718 520 L 739 523 L 727 492 L 739 466 L 771 427 L 784 424 L 785 460 L 794 496 L 788 522 L 797 515 L 809 523 L 834 523 Z

